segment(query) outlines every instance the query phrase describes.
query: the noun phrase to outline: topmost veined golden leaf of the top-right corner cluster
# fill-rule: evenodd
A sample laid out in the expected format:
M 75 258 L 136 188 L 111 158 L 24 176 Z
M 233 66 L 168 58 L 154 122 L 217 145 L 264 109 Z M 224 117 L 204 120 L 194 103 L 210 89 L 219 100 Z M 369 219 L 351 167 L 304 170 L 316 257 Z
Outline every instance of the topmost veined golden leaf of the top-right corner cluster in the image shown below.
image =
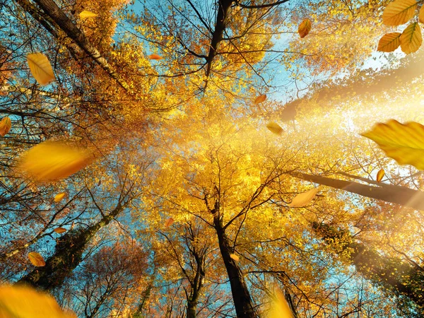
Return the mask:
M 383 24 L 401 25 L 410 20 L 418 6 L 416 0 L 394 0 L 383 11 Z

